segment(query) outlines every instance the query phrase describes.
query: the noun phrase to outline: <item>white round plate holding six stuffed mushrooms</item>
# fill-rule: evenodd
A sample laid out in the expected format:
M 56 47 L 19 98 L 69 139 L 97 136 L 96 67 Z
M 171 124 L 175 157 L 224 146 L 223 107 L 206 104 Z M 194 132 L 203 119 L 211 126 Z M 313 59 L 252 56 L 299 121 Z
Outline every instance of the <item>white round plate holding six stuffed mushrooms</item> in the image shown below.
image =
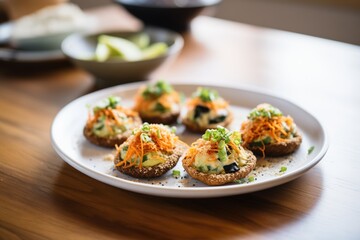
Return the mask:
M 190 96 L 196 90 L 197 84 L 174 84 L 174 88 Z M 201 85 L 204 86 L 204 85 Z M 245 179 L 244 183 L 232 183 L 224 186 L 207 186 L 187 175 L 181 162 L 174 169 L 181 171 L 181 177 L 176 179 L 170 170 L 156 179 L 135 179 L 126 176 L 113 167 L 113 162 L 106 160 L 106 155 L 113 150 L 101 148 L 89 143 L 82 134 L 87 118 L 87 106 L 94 105 L 109 95 L 120 96 L 126 106 L 133 105 L 134 95 L 139 83 L 116 86 L 80 97 L 65 106 L 55 117 L 51 128 L 51 140 L 55 151 L 71 166 L 80 172 L 101 182 L 149 195 L 167 197 L 218 197 L 254 192 L 289 182 L 315 166 L 325 155 L 328 148 L 326 133 L 320 122 L 301 107 L 279 97 L 259 91 L 220 86 L 215 88 L 231 104 L 235 113 L 235 121 L 230 129 L 239 129 L 246 119 L 249 110 L 259 103 L 267 102 L 280 108 L 285 115 L 291 115 L 300 132 L 303 142 L 296 153 L 284 158 L 267 158 L 259 161 L 256 170 L 249 176 L 254 181 Z M 187 132 L 179 125 L 177 133 L 180 138 L 191 143 L 201 135 Z M 314 151 L 308 154 L 308 149 L 314 146 Z M 280 173 L 280 168 L 287 170 Z

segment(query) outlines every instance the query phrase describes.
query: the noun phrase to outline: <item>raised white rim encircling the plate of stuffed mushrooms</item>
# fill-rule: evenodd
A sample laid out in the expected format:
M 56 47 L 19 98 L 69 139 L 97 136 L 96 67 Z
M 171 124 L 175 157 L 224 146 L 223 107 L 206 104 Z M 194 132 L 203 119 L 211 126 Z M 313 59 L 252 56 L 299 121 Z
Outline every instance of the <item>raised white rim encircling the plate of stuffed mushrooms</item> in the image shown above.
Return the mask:
M 62 112 L 64 112 L 68 107 L 70 107 L 72 104 L 75 104 L 78 101 L 82 101 L 84 98 L 88 98 L 90 96 L 96 97 L 96 95 L 102 95 L 105 92 L 115 92 L 115 91 L 128 91 L 128 90 L 136 90 L 137 87 L 147 84 L 147 82 L 136 82 L 136 83 L 128 83 L 124 85 L 117 85 L 105 89 L 101 89 L 92 93 L 88 93 L 86 95 L 83 95 L 79 98 L 74 99 L 73 101 L 67 103 L 64 107 L 60 109 L 60 111 L 56 114 L 55 118 L 53 119 L 53 122 L 51 124 L 51 130 L 50 130 L 50 138 L 51 138 L 51 144 L 55 150 L 55 152 L 70 166 L 74 167 L 78 171 L 80 171 L 82 174 L 85 174 L 91 178 L 94 178 L 100 182 L 115 186 L 120 189 L 147 194 L 147 195 L 154 195 L 154 196 L 162 196 L 162 197 L 178 197 L 178 198 L 206 198 L 206 197 L 223 197 L 223 196 L 230 196 L 230 195 L 240 195 L 245 193 L 250 193 L 254 191 L 264 190 L 268 188 L 272 188 L 278 185 L 281 185 L 286 182 L 290 182 L 300 176 L 302 176 L 305 172 L 313 168 L 317 163 L 321 161 L 321 159 L 325 156 L 328 148 L 329 148 L 329 140 L 328 140 L 328 134 L 324 127 L 324 125 L 320 122 L 320 120 L 312 113 L 310 113 L 308 110 L 304 109 L 298 104 L 295 104 L 291 100 L 285 99 L 281 96 L 278 96 L 276 94 L 269 93 L 265 91 L 264 89 L 258 89 L 250 86 L 245 85 L 237 85 L 237 86 L 231 86 L 230 84 L 223 84 L 223 85 L 216 85 L 216 84 L 209 84 L 209 83 L 202 83 L 202 82 L 178 82 L 178 81 L 172 81 L 170 82 L 175 88 L 176 86 L 205 86 L 205 87 L 211 87 L 211 88 L 223 88 L 223 89 L 233 89 L 233 90 L 239 90 L 239 91 L 245 91 L 251 94 L 260 94 L 265 95 L 267 97 L 275 98 L 277 100 L 285 101 L 287 104 L 290 104 L 292 106 L 295 106 L 302 111 L 304 111 L 306 114 L 311 116 L 313 120 L 317 122 L 317 124 L 320 126 L 320 132 L 323 136 L 323 145 L 321 146 L 320 151 L 316 156 L 314 156 L 310 161 L 307 163 L 301 165 L 300 167 L 294 169 L 294 171 L 291 171 L 289 173 L 285 173 L 281 176 L 278 176 L 276 178 L 272 178 L 263 182 L 252 182 L 250 185 L 222 185 L 222 186 L 205 186 L 205 187 L 197 187 L 197 188 L 174 188 L 169 186 L 157 186 L 157 185 L 151 185 L 141 182 L 135 182 L 127 179 L 122 179 L 116 176 L 112 176 L 106 173 L 95 171 L 94 169 L 88 168 L 85 165 L 79 163 L 78 161 L 71 159 L 66 153 L 64 153 L 59 146 L 57 146 L 53 133 L 55 124 L 58 121 L 59 116 L 61 116 Z M 115 181 L 120 182 L 119 184 L 115 184 Z M 126 186 L 126 184 L 129 184 L 129 186 Z M 123 186 L 124 185 L 124 186 Z M 137 188 L 132 188 L 137 187 Z M 219 189 L 220 188 L 220 189 Z M 234 189 L 237 189 L 238 191 L 234 191 Z M 153 190 L 153 191 L 151 191 Z M 156 191 L 155 191 L 156 190 Z

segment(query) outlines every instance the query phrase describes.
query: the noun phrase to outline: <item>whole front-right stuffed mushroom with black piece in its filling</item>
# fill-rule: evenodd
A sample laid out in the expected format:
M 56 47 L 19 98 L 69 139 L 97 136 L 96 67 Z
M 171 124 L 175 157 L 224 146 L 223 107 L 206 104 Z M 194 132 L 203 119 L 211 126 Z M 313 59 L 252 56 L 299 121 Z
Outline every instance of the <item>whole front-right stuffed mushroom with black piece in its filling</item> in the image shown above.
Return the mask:
M 256 157 L 241 145 L 240 132 L 218 126 L 208 129 L 184 154 L 182 165 L 193 178 L 207 185 L 223 185 L 246 177 Z

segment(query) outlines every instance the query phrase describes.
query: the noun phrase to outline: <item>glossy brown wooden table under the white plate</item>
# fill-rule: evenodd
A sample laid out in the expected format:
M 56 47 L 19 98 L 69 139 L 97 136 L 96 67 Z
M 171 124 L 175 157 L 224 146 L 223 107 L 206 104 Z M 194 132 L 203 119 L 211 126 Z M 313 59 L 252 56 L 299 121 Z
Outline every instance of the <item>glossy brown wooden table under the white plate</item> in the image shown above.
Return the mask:
M 180 56 L 152 79 L 247 85 L 287 98 L 324 123 L 324 159 L 292 182 L 246 195 L 128 192 L 78 172 L 50 143 L 56 113 L 94 90 L 89 74 L 69 66 L 1 73 L 0 239 L 360 238 L 360 48 L 210 17 L 184 37 Z

